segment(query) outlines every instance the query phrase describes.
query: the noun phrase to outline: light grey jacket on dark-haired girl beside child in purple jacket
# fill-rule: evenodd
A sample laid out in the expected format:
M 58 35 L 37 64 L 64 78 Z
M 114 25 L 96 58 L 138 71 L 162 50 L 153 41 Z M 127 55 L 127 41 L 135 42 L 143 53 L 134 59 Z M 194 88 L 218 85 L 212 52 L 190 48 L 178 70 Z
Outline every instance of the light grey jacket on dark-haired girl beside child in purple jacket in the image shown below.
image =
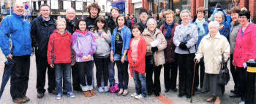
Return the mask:
M 97 33 L 97 31 L 94 31 L 93 35 L 97 43 L 97 49 L 94 55 L 96 55 L 96 57 L 97 56 L 105 57 L 106 55 L 110 55 L 110 42 L 111 42 L 110 31 L 107 32 L 108 37 L 106 39 L 99 36 L 99 33 Z

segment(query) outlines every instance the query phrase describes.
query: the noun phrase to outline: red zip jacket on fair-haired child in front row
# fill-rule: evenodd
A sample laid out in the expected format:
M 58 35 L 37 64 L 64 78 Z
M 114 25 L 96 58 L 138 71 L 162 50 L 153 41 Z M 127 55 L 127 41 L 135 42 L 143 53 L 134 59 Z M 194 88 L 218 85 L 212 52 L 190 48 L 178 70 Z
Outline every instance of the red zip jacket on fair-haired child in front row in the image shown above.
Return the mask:
M 71 48 L 72 36 L 71 33 L 65 32 L 63 35 L 56 30 L 50 35 L 47 60 L 48 63 L 75 63 L 75 53 Z

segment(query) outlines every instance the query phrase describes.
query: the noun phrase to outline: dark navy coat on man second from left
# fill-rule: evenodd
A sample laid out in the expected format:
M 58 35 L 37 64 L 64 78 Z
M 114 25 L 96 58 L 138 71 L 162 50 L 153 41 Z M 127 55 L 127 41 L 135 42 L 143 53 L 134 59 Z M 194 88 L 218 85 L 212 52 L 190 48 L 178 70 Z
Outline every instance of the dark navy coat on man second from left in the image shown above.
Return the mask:
M 36 48 L 41 56 L 46 57 L 50 35 L 56 30 L 56 20 L 50 17 L 49 21 L 42 16 L 35 18 L 31 23 L 32 47 Z

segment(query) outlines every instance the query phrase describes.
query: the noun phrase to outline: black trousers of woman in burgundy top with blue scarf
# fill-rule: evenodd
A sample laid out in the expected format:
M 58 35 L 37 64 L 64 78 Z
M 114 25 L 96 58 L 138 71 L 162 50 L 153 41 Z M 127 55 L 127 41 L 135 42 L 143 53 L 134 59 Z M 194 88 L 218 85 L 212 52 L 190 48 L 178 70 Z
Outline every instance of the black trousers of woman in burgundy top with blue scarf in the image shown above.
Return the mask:
M 177 63 L 164 64 L 165 89 L 176 89 L 177 72 Z

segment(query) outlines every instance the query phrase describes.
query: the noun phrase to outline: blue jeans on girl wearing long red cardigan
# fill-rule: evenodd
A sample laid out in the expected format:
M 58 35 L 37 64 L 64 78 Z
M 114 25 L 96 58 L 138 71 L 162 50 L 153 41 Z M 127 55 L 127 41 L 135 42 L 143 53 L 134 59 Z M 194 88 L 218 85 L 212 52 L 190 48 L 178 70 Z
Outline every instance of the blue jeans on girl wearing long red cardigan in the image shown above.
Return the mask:
M 143 95 L 143 97 L 146 97 L 147 88 L 145 74 L 138 73 L 137 71 L 132 71 L 132 74 L 135 81 L 136 93 L 138 95 Z

